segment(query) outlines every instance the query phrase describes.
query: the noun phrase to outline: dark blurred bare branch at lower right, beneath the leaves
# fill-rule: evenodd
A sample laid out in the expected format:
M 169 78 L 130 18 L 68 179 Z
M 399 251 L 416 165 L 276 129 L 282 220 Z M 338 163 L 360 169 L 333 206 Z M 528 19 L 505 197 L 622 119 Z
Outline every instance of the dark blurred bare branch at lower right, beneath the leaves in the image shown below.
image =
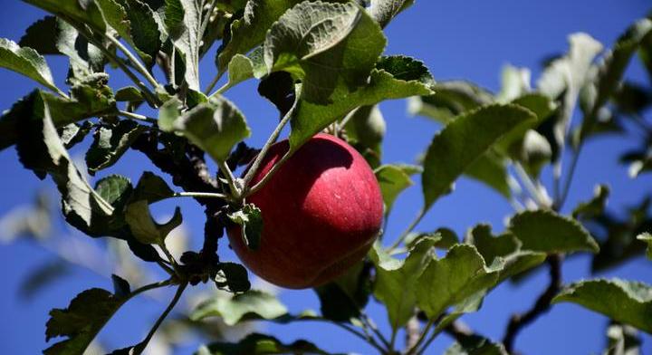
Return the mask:
M 552 298 L 561 290 L 561 255 L 551 254 L 547 262 L 550 266 L 551 281 L 545 291 L 539 296 L 534 305 L 528 312 L 522 314 L 513 314 L 512 319 L 507 325 L 507 330 L 503 338 L 505 349 L 513 353 L 513 345 L 519 332 L 528 324 L 535 321 L 543 313 L 548 312 L 551 308 Z

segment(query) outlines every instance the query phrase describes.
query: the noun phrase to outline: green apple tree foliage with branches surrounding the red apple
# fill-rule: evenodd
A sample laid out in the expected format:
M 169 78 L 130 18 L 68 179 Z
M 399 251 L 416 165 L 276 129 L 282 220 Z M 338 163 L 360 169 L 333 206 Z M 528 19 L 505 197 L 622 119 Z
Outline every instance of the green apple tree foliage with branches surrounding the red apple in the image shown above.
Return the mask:
M 568 52 L 547 62 L 534 83 L 527 69 L 507 67 L 502 90 L 491 92 L 473 82 L 437 81 L 423 62 L 384 54 L 382 29 L 415 5 L 410 0 L 24 2 L 49 15 L 18 43 L 0 39 L 0 66 L 40 88 L 2 114 L 0 149 L 15 147 L 24 168 L 52 178 L 69 225 L 92 238 L 108 238 L 110 245 L 129 245 L 114 251 L 121 264 L 132 265 L 135 256 L 168 274 L 139 287 L 130 283 L 142 283 L 142 277 L 129 283 L 113 275 L 114 290 L 91 288 L 67 307 L 53 309 L 46 337 L 55 341 L 45 354 L 88 350 L 120 306 L 160 287 L 177 292 L 148 336 L 111 354 L 141 353 L 161 324 L 172 329 L 183 323 L 211 334 L 206 327 L 215 317 L 226 327 L 325 321 L 381 354 L 426 353 L 442 332 L 455 338 L 446 353 L 511 353 L 519 331 L 559 302 L 612 320 L 609 353 L 636 350 L 638 331 L 652 332 L 652 286 L 561 279 L 561 264 L 574 254 L 592 254 L 594 272 L 651 255 L 649 195 L 626 214 L 607 208 L 606 185 L 579 206 L 564 209 L 564 204 L 590 139 L 636 132 L 640 148 L 625 152 L 622 161 L 631 178 L 652 170 L 652 126 L 643 118 L 652 88 L 624 77 L 628 64 L 640 61 L 652 79 L 652 18 L 631 24 L 610 49 L 589 34 L 571 34 Z M 69 59 L 65 88 L 54 83 L 45 59 L 50 55 Z M 215 56 L 216 74 L 201 88 L 206 73 L 198 64 L 206 55 Z M 111 87 L 108 67 L 133 84 Z M 224 85 L 215 90 L 220 81 Z M 245 225 L 247 245 L 258 243 L 264 227 L 260 210 L 243 204 L 257 188 L 250 186 L 252 174 L 233 173 L 261 151 L 243 142 L 251 130 L 227 99 L 228 91 L 245 81 L 258 82 L 257 93 L 281 118 L 263 154 L 288 123 L 288 154 L 321 130 L 348 140 L 375 168 L 386 219 L 399 194 L 420 176 L 423 206 L 415 221 L 402 235 L 379 235 L 363 262 L 316 288 L 321 312 L 289 313 L 272 293 L 250 289 L 244 266 L 222 262 L 218 254 L 228 223 Z M 441 130 L 413 164 L 383 164 L 385 121 L 378 104 L 404 98 L 409 112 L 436 120 Z M 158 114 L 147 115 L 154 111 Z M 69 150 L 84 139 L 91 144 L 82 169 Z M 144 154 L 159 171 L 143 171 L 138 181 L 110 174 L 129 151 Z M 216 162 L 217 172 L 207 158 Z M 255 162 L 253 167 L 251 173 Z M 546 174 L 550 186 L 542 183 Z M 91 184 L 89 176 L 96 175 L 101 178 Z M 461 238 L 445 225 L 417 231 L 428 209 L 454 191 L 461 176 L 484 183 L 513 205 L 506 229 L 495 233 L 479 224 Z M 180 210 L 165 223 L 150 212 L 150 205 L 172 197 L 194 198 L 206 210 L 203 247 L 178 260 L 168 250 L 168 237 L 182 223 Z M 49 216 L 41 198 L 29 214 L 14 216 L 14 233 L 42 239 Z M 67 267 L 62 261 L 44 265 L 22 292 L 34 293 Z M 486 339 L 460 321 L 478 312 L 500 283 L 518 282 L 538 268 L 549 270 L 550 284 L 530 310 L 512 316 L 503 339 Z M 187 287 L 198 283 L 214 283 L 226 293 L 164 322 Z M 369 302 L 386 308 L 390 333 L 369 319 Z M 407 340 L 398 341 L 399 333 Z M 284 343 L 259 333 L 238 342 L 220 339 L 215 335 L 197 354 L 327 353 L 319 344 Z

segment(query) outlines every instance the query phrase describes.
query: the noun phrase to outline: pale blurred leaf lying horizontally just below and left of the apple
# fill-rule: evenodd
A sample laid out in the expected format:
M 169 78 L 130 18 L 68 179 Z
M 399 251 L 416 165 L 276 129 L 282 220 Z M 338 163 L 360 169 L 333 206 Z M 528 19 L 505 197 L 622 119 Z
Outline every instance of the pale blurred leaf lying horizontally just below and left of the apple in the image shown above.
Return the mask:
M 215 296 L 199 303 L 190 313 L 192 321 L 207 317 L 221 317 L 226 325 L 233 326 L 248 316 L 255 319 L 273 320 L 287 313 L 287 308 L 273 294 L 249 290 L 232 297 Z

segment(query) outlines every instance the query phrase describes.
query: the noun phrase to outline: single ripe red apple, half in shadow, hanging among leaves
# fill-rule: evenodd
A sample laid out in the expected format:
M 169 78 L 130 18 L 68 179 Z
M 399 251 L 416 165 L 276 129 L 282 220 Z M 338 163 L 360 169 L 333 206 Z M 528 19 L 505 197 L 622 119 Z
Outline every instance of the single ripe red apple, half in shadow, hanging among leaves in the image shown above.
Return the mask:
M 275 143 L 253 184 L 289 149 Z M 376 177 L 360 153 L 341 139 L 317 134 L 252 196 L 263 213 L 257 250 L 245 245 L 240 225 L 227 228 L 231 247 L 264 280 L 291 289 L 328 283 L 369 251 L 382 225 Z

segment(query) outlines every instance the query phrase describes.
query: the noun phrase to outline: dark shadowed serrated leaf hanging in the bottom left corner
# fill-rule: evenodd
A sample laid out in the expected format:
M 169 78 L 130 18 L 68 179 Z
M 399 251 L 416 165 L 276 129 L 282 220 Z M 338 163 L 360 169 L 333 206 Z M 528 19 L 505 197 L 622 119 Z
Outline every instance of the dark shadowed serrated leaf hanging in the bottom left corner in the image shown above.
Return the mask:
M 45 355 L 82 354 L 104 324 L 127 301 L 102 289 L 90 289 L 78 294 L 66 309 L 53 309 L 46 323 L 45 341 L 67 337 L 53 344 Z

